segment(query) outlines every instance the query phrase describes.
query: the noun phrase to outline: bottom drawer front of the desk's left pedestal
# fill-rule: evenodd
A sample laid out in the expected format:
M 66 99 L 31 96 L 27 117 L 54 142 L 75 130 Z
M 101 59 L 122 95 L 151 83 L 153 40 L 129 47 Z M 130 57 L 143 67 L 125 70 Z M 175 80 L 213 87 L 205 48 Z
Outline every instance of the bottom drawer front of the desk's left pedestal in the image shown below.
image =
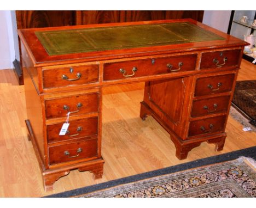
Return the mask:
M 51 146 L 48 148 L 49 164 L 96 157 L 98 154 L 97 146 L 97 139 L 90 139 L 59 146 Z

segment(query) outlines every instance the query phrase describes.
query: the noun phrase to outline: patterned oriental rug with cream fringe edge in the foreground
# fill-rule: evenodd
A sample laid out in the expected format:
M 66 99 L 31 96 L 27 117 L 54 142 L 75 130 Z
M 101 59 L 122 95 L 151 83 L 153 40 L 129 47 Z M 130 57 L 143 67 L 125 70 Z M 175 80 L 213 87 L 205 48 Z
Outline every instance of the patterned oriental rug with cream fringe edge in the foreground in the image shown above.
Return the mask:
M 240 157 L 79 197 L 256 197 L 255 169 L 252 159 Z

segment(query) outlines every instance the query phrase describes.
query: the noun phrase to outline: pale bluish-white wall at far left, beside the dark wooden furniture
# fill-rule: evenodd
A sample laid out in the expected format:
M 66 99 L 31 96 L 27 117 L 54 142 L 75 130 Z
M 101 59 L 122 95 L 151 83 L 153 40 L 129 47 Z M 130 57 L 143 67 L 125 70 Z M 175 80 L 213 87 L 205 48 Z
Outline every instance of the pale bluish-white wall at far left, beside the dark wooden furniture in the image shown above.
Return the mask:
M 12 69 L 15 60 L 11 11 L 0 11 L 0 69 Z

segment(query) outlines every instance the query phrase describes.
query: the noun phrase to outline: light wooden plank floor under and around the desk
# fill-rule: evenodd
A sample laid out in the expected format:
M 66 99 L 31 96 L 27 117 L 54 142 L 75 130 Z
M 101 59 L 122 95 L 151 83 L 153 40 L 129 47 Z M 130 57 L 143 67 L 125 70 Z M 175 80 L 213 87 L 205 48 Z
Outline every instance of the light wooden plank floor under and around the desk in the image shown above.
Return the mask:
M 256 66 L 243 60 L 238 79 L 256 79 Z M 13 70 L 0 70 L 0 197 L 42 197 L 256 145 L 256 133 L 243 132 L 229 117 L 223 151 L 202 143 L 179 161 L 168 133 L 153 118 L 139 118 L 143 88 L 144 83 L 138 83 L 103 90 L 103 178 L 94 181 L 91 173 L 72 170 L 55 182 L 54 191 L 44 192 L 27 140 L 24 86 L 16 83 Z

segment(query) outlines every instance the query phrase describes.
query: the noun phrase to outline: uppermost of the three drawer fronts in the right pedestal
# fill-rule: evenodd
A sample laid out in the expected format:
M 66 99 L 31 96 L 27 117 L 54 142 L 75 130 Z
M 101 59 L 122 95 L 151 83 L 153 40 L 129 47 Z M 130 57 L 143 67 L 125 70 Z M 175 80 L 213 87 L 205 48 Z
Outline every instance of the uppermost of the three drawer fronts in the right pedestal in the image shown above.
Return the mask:
M 197 78 L 195 96 L 231 91 L 235 74 Z

